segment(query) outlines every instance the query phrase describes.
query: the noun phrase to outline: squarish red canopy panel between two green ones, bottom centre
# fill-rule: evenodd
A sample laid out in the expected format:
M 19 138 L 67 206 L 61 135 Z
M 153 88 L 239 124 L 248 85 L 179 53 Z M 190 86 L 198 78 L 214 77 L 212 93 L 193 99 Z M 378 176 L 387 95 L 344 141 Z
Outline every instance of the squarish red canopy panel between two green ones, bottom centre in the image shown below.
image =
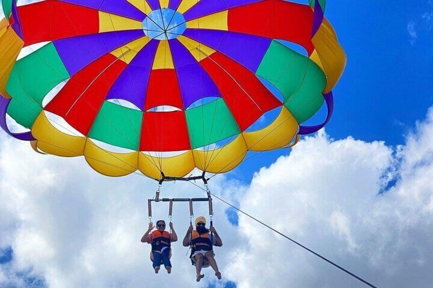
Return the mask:
M 184 111 L 145 112 L 140 151 L 182 151 L 191 149 Z

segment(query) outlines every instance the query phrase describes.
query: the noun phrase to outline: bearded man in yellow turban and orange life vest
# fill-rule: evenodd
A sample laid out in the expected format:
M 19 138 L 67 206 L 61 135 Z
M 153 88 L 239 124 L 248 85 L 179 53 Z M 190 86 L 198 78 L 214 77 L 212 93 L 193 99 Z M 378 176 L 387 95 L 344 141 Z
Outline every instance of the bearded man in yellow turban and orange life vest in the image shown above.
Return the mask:
M 215 271 L 215 276 L 221 280 L 221 272 L 218 270 L 215 258 L 213 257 L 215 254 L 213 254 L 212 246 L 221 247 L 223 246 L 223 241 L 213 226 L 211 226 L 210 229 L 206 228 L 206 218 L 203 216 L 197 217 L 194 223 L 196 225 L 196 229 L 194 230 L 193 225 L 189 226 L 182 244 L 185 247 L 191 247 L 190 258 L 193 265 L 196 266 L 196 280 L 197 282 L 200 282 L 200 280 L 204 277 L 204 275 L 201 274 L 204 260 L 206 260 L 207 263 L 209 263 L 209 265 L 213 268 Z

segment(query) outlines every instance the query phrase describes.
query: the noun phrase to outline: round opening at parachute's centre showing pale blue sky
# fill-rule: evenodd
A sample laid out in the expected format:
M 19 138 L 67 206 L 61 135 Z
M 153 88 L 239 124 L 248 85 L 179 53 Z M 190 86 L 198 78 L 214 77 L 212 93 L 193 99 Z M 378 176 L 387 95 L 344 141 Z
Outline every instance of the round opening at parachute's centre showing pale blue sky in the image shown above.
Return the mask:
M 173 9 L 154 10 L 143 20 L 146 36 L 158 40 L 174 39 L 185 32 L 186 22 L 183 15 Z

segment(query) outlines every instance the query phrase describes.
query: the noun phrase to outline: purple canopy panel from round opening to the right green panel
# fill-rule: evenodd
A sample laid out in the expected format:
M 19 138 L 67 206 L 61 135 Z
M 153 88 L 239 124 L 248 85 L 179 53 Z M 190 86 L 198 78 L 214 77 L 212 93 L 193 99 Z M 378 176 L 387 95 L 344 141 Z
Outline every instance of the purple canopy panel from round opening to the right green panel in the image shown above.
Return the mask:
M 187 29 L 185 36 L 220 51 L 255 73 L 271 39 L 229 31 Z

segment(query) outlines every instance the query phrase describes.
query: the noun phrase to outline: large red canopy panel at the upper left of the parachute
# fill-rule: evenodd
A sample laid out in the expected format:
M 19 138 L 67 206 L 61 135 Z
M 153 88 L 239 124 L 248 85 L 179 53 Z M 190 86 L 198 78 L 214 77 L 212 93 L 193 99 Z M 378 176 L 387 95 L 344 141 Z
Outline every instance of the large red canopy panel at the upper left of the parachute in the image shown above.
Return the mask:
M 25 46 L 99 33 L 98 10 L 59 1 L 43 1 L 17 9 Z

